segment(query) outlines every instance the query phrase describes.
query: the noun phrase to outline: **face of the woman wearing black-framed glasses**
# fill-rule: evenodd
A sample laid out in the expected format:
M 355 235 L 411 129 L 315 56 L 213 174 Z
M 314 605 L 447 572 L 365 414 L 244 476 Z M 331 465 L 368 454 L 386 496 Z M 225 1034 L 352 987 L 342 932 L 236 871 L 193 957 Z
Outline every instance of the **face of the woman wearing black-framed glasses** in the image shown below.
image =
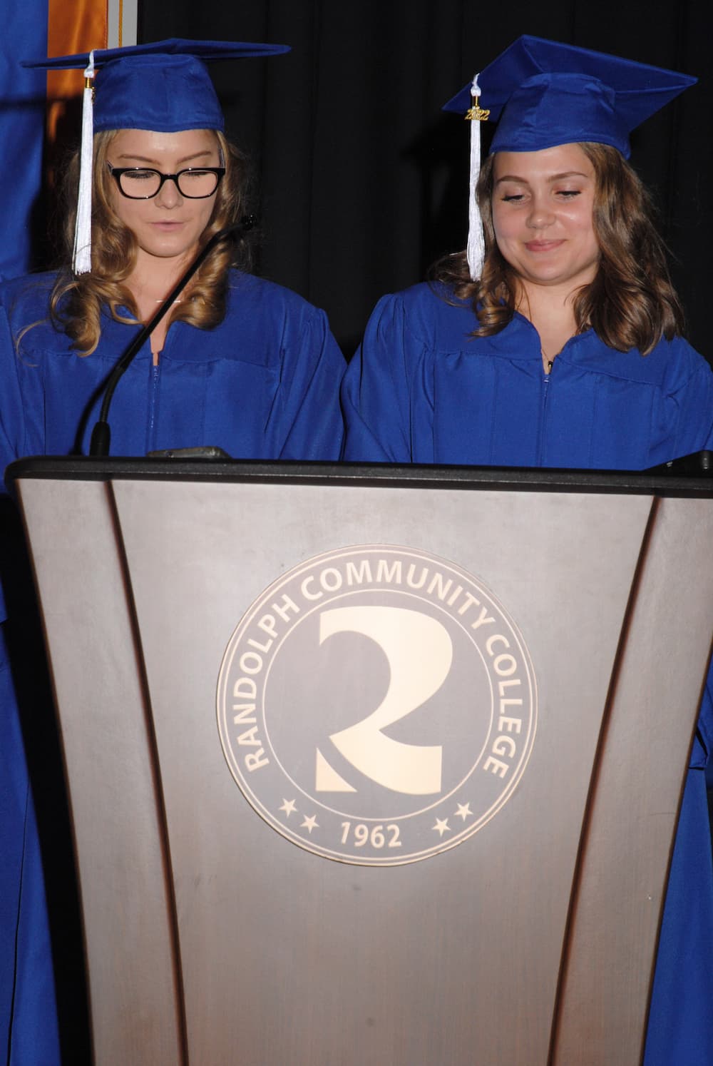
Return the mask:
M 119 130 L 107 151 L 112 166 L 146 166 L 162 174 L 176 174 L 189 166 L 221 166 L 217 138 L 212 130 Z M 210 222 L 215 195 L 189 199 L 175 181 L 164 181 L 151 199 L 128 199 L 116 182 L 109 185 L 109 199 L 120 221 L 135 236 L 139 257 L 161 260 L 191 259 L 198 251 L 200 235 Z

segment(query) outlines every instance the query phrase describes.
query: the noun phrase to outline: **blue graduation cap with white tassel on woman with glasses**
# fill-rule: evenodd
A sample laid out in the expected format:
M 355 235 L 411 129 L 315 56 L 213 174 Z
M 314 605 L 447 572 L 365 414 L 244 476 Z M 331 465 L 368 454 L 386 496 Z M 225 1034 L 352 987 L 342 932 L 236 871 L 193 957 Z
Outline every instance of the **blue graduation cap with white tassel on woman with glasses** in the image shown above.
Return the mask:
M 277 55 L 288 51 L 288 45 L 173 37 L 21 64 L 47 70 L 84 68 L 79 203 L 72 256 L 77 274 L 92 269 L 93 134 L 119 129 L 159 133 L 223 130 L 225 119 L 205 61 Z

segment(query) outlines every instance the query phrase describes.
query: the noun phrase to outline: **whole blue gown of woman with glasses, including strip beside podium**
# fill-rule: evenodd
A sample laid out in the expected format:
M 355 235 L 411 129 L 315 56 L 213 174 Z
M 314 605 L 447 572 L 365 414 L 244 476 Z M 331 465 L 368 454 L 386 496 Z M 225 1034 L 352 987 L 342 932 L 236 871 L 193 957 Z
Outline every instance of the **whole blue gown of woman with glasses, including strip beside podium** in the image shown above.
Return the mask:
M 97 351 L 78 355 L 48 319 L 53 281 L 54 275 L 39 274 L 0 286 L 0 474 L 23 455 L 87 453 L 102 386 L 140 328 L 104 313 Z M 146 343 L 127 370 L 110 410 L 111 454 L 216 445 L 234 458 L 337 459 L 343 369 L 322 311 L 233 271 L 218 326 L 174 323 L 159 366 Z M 0 587 L 0 623 L 4 617 Z M 60 1043 L 42 860 L 3 628 L 0 1056 L 7 1049 L 9 1066 L 55 1066 Z

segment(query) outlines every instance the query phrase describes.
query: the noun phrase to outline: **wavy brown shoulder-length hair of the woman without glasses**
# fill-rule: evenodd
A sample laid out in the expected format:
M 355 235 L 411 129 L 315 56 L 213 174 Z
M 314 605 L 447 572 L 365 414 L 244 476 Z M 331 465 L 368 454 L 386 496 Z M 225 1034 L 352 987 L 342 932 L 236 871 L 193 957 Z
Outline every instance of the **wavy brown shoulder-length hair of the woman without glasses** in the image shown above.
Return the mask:
M 594 230 L 601 258 L 595 279 L 574 297 L 577 333 L 592 327 L 619 352 L 642 355 L 662 337 L 683 333 L 683 309 L 668 274 L 666 247 L 653 225 L 646 188 L 623 156 L 610 145 L 580 144 L 596 177 Z M 470 300 L 479 321 L 474 337 L 491 337 L 507 325 L 520 295 L 518 278 L 498 247 L 492 226 L 495 156 L 481 169 L 477 200 L 485 233 L 483 276 L 473 281 L 466 253 L 439 260 L 432 278 Z

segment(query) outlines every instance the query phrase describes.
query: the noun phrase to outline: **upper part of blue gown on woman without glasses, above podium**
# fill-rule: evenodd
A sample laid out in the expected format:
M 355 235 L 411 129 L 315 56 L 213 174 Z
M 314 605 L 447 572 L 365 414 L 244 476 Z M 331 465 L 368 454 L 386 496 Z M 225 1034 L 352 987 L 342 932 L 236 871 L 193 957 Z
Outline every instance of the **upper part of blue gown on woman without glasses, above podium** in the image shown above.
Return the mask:
M 546 376 L 526 319 L 476 325 L 427 285 L 377 304 L 344 378 L 344 458 L 641 470 L 709 446 L 713 375 L 681 338 L 642 358 L 589 329 Z

